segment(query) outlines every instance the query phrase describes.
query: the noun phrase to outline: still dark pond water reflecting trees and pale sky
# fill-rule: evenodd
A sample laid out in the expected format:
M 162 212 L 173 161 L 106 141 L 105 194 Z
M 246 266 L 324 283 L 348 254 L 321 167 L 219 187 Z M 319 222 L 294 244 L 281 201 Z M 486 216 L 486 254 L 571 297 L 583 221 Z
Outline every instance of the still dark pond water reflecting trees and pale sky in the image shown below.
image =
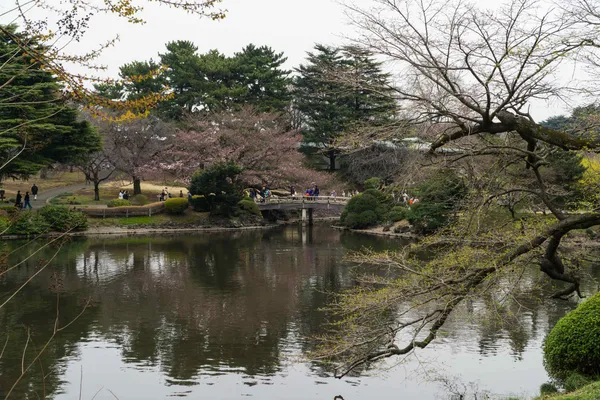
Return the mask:
M 537 394 L 547 380 L 540 344 L 573 303 L 524 296 L 515 306 L 518 317 L 483 323 L 477 319 L 486 308 L 482 299 L 465 305 L 430 348 L 342 380 L 303 357 L 312 348 L 310 337 L 323 331 L 325 293 L 353 285 L 344 254 L 401 245 L 325 226 L 290 226 L 78 239 L 58 253 L 44 249 L 0 278 L 1 304 L 39 272 L 0 308 L 0 346 L 7 344 L 0 398 L 29 364 L 10 398 L 448 399 L 466 389 Z M 41 261 L 50 266 L 39 271 Z M 526 279 L 537 279 L 534 269 Z M 85 312 L 32 363 L 52 336 L 57 310 L 64 326 L 88 300 Z

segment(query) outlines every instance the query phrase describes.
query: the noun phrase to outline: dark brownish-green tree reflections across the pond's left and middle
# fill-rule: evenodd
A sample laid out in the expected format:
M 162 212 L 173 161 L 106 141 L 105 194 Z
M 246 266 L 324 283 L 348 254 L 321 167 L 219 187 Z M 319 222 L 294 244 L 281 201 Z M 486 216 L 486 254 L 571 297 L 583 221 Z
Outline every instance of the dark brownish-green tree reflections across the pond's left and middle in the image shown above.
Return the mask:
M 290 227 L 283 234 L 77 241 L 27 287 L 21 298 L 27 307 L 6 309 L 0 316 L 11 331 L 27 321 L 43 336 L 52 327 L 48 287 L 55 273 L 64 287 L 65 316 L 79 312 L 87 296 L 96 307 L 57 338 L 56 354 L 44 359 L 47 369 L 58 372 L 59 359 L 70 358 L 77 342 L 95 332 L 120 344 L 125 362 L 160 366 L 179 383 L 223 370 L 274 374 L 285 356 L 282 347 L 299 340 L 298 331 L 311 336 L 319 329 L 323 317 L 317 309 L 327 299 L 322 290 L 338 290 L 347 280 L 338 264 L 338 237 L 339 232 L 315 228 L 303 241 L 302 231 Z M 2 282 L 4 289 L 31 272 L 15 272 Z M 23 336 L 18 340 L 24 343 Z M 4 358 L 14 368 L 0 372 L 2 383 L 15 377 L 17 359 L 16 348 Z M 31 387 L 39 388 L 40 375 L 34 376 Z

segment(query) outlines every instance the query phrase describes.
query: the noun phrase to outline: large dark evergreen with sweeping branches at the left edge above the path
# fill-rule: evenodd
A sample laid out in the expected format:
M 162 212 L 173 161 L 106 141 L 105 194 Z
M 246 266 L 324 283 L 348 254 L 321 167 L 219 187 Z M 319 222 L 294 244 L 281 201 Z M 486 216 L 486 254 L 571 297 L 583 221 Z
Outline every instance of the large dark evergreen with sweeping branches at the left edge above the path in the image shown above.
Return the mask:
M 53 162 L 70 163 L 99 150 L 101 140 L 77 110 L 66 104 L 56 78 L 14 38 L 33 51 L 46 49 L 6 27 L 0 34 L 0 180 L 27 178 Z

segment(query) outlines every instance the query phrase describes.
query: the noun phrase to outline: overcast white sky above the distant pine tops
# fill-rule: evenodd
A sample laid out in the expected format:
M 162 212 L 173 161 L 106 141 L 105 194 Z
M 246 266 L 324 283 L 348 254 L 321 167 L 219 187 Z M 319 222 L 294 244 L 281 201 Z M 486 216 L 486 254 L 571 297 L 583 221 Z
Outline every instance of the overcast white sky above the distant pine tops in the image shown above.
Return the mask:
M 360 5 L 370 2 L 355 0 Z M 490 6 L 487 0 L 475 2 Z M 344 7 L 336 0 L 225 0 L 223 5 L 229 12 L 222 21 L 200 19 L 180 10 L 143 3 L 147 24 L 131 25 L 114 16 L 95 18 L 83 41 L 71 44 L 69 51 L 88 51 L 118 33 L 120 41 L 100 58 L 109 67 L 107 74 L 116 77 L 120 65 L 156 59 L 164 51 L 165 43 L 172 40 L 190 40 L 200 52 L 218 49 L 228 55 L 254 43 L 283 51 L 288 57 L 286 67 L 291 69 L 303 62 L 306 51 L 315 43 L 340 44 L 356 32 L 348 23 Z M 0 13 L 12 4 L 10 0 L 0 0 Z M 564 112 L 562 104 L 540 102 L 532 108 L 538 120 Z

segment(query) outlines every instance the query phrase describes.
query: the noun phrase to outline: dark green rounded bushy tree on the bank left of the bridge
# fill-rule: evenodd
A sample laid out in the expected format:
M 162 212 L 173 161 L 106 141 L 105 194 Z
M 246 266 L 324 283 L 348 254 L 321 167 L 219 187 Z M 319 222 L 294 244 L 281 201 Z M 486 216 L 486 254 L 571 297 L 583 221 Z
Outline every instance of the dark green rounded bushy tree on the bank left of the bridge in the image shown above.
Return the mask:
M 212 214 L 231 216 L 242 200 L 242 189 L 235 184 L 242 169 L 234 163 L 217 163 L 192 177 L 189 187 L 192 195 L 202 195 Z

